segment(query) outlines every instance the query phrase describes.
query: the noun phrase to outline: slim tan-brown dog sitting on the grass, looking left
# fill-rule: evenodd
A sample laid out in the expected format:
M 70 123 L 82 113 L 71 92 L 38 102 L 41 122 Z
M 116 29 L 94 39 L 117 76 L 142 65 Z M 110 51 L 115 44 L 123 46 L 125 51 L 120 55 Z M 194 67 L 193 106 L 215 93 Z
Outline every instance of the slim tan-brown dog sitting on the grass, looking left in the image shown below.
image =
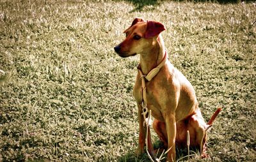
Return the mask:
M 160 22 L 145 22 L 141 18 L 135 18 L 131 27 L 124 31 L 125 40 L 115 47 L 115 52 L 121 57 L 140 54 L 139 72 L 133 89 L 140 122 L 138 153 L 143 153 L 145 146 L 143 103 L 147 100 L 147 108 L 154 117 L 153 128 L 164 145 L 170 149 L 168 161 L 175 161 L 175 144 L 186 146 L 187 131 L 190 134 L 190 145 L 200 148 L 202 157 L 205 157 L 206 131 L 221 108 L 216 110 L 207 124 L 204 122 L 192 85 L 166 59 L 167 54 L 160 34 L 164 30 Z M 148 151 L 154 154 L 150 134 Z

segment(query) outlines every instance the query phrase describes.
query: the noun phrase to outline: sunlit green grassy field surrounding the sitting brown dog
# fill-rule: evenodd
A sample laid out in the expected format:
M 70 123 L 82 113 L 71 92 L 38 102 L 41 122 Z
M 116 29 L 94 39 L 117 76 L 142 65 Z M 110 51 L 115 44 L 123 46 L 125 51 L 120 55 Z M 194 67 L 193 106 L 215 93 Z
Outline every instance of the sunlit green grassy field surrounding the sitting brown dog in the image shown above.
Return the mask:
M 256 161 L 255 16 L 255 3 L 1 0 L 0 161 L 148 161 L 134 154 L 138 57 L 113 50 L 134 17 L 166 26 L 205 121 L 223 107 L 211 158 L 191 161 Z

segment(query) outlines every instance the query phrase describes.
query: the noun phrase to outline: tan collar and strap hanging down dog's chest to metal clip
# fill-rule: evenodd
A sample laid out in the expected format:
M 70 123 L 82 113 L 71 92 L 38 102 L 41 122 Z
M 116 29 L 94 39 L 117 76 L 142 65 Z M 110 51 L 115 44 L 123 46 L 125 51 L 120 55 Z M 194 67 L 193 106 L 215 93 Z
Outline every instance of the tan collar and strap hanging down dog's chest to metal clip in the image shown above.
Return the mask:
M 143 122 L 143 126 L 148 126 L 148 124 L 150 125 L 150 117 L 147 117 L 148 114 L 148 108 L 147 108 L 147 88 L 146 88 L 146 80 L 149 82 L 150 80 L 152 80 L 152 78 L 154 78 L 157 73 L 159 72 L 159 70 L 164 66 L 164 64 L 166 63 L 167 60 L 167 52 L 165 52 L 164 54 L 164 58 L 161 61 L 161 63 L 159 65 L 156 66 L 156 68 L 153 68 L 152 70 L 149 71 L 149 73 L 147 75 L 144 75 L 143 72 L 140 69 L 140 65 L 138 66 L 138 71 L 140 73 L 140 79 L 141 79 L 141 89 L 142 89 L 142 113 L 141 115 L 143 115 L 144 118 L 144 122 Z

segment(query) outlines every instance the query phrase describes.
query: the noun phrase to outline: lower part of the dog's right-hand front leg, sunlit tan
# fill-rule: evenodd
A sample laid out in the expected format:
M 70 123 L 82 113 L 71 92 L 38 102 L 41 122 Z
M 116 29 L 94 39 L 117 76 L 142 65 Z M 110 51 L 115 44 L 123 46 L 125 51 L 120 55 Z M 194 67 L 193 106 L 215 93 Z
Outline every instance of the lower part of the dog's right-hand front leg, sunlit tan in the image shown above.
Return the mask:
M 175 161 L 176 152 L 175 152 L 175 136 L 176 136 L 176 121 L 175 115 L 169 114 L 166 115 L 166 131 L 168 136 L 168 154 L 167 161 Z

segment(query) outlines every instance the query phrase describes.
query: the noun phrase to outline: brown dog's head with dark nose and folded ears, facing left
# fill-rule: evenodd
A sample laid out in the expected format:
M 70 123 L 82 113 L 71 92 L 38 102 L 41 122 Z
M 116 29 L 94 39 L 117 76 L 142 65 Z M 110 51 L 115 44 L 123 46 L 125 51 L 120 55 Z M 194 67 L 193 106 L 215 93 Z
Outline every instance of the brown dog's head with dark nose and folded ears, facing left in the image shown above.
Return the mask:
M 126 38 L 114 48 L 115 52 L 121 57 L 147 53 L 152 50 L 158 35 L 164 30 L 160 22 L 145 22 L 142 18 L 135 18 L 132 25 L 124 31 Z

